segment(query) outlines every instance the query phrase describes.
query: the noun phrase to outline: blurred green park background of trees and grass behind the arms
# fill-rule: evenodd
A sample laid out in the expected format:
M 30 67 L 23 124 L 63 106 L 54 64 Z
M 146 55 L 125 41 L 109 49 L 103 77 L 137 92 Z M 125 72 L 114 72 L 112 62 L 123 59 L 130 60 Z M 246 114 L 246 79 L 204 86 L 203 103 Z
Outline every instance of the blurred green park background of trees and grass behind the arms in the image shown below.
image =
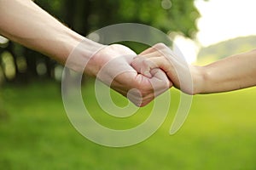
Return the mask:
M 36 3 L 84 36 L 122 22 L 147 24 L 170 36 L 178 34 L 194 41 L 196 32 L 200 33 L 200 14 L 192 0 Z M 201 47 L 197 63 L 203 65 L 255 46 L 255 37 L 250 36 Z M 60 65 L 3 39 L 0 54 L 0 169 L 256 168 L 256 88 L 196 95 L 187 121 L 170 136 L 179 101 L 178 91 L 172 89 L 170 113 L 157 133 L 141 144 L 113 149 L 84 139 L 68 121 L 61 100 Z M 93 80 L 86 78 L 83 96 L 90 99 L 86 105 L 94 111 L 92 116 L 107 127 L 134 127 L 151 111 L 152 104 L 127 120 L 106 116 L 96 103 L 93 88 Z M 112 97 L 117 105 L 127 102 L 114 92 Z

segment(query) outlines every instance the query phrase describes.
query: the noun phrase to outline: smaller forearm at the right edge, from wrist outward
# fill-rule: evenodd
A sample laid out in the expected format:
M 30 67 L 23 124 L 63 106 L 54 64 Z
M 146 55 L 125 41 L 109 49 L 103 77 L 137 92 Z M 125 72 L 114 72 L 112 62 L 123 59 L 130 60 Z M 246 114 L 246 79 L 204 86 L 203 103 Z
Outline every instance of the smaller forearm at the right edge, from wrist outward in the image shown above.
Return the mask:
M 195 94 L 227 92 L 256 85 L 256 50 L 196 67 Z M 193 75 L 193 71 L 192 71 Z M 195 76 L 196 75 L 196 76 Z

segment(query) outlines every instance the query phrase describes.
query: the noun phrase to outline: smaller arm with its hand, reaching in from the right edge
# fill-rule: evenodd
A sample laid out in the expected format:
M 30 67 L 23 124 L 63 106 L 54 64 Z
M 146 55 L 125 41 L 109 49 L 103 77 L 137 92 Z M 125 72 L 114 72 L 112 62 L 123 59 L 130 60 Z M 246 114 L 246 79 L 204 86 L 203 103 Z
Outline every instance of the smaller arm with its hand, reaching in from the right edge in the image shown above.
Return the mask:
M 209 65 L 185 65 L 170 48 L 159 43 L 145 50 L 131 65 L 146 76 L 152 69 L 159 67 L 166 72 L 174 87 L 186 94 L 212 94 L 255 86 L 255 63 L 256 50 L 253 50 L 220 59 Z M 189 88 L 189 83 L 179 80 L 179 74 L 191 75 L 193 88 Z

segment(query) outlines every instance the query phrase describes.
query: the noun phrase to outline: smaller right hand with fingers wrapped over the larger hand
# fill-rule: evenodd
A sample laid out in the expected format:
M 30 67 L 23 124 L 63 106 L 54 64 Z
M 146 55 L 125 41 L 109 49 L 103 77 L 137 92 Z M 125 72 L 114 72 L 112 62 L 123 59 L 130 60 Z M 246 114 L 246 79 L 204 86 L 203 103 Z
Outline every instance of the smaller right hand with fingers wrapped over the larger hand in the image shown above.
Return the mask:
M 186 94 L 194 94 L 193 79 L 190 70 L 194 66 L 187 65 L 186 61 L 177 56 L 163 43 L 158 43 L 148 48 L 135 58 L 131 65 L 135 70 L 147 77 L 151 77 L 151 71 L 160 68 L 173 82 L 174 87 L 181 89 Z

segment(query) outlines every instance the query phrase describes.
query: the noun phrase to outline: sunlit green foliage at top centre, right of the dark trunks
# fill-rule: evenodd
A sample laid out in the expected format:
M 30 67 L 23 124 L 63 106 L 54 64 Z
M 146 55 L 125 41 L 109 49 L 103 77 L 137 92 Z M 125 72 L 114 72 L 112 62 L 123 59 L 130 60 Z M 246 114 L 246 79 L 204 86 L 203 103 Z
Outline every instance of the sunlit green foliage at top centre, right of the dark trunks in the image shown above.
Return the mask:
M 116 1 L 113 8 L 118 16 L 116 22 L 137 22 L 154 26 L 161 31 L 176 31 L 185 37 L 194 37 L 197 31 L 196 20 L 200 16 L 194 0 L 130 0 Z M 166 2 L 165 8 L 163 2 Z M 168 4 L 169 3 L 169 4 Z M 169 6 L 168 6 L 169 5 Z

